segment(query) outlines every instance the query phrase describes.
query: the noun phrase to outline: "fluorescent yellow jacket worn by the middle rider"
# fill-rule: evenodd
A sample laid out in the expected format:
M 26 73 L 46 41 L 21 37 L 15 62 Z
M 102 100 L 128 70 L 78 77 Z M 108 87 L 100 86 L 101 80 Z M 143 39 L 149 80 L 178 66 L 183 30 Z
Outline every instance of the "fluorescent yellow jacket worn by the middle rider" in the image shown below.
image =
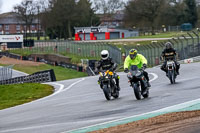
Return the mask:
M 132 65 L 136 65 L 138 68 L 142 68 L 143 64 L 147 65 L 147 59 L 143 55 L 137 54 L 137 56 L 133 60 L 128 55 L 124 61 L 124 69 L 130 69 L 130 66 Z

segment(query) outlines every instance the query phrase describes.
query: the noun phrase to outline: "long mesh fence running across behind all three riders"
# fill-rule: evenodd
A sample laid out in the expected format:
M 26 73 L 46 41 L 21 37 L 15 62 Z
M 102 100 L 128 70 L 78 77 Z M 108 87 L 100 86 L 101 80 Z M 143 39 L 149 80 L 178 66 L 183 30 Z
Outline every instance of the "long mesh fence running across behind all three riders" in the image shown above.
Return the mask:
M 130 49 L 135 48 L 147 58 L 149 66 L 158 65 L 161 63 L 159 57 L 167 41 L 170 41 L 177 50 L 178 60 L 200 55 L 199 31 L 191 31 L 162 42 L 152 41 L 147 45 L 124 46 L 125 56 Z M 100 53 L 104 49 L 109 50 L 116 63 L 123 64 L 124 56 L 122 59 L 121 50 L 108 42 L 35 41 L 34 47 L 23 48 L 23 51 L 29 54 L 75 54 L 82 58 L 100 58 Z

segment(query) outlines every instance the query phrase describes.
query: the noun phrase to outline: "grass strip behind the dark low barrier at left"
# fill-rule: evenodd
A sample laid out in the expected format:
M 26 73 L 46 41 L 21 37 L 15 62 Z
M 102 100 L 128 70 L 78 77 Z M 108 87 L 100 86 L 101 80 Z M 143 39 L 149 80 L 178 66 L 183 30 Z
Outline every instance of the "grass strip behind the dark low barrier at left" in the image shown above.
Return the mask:
M 38 72 L 38 71 L 42 71 L 42 70 L 53 69 L 54 73 L 56 75 L 57 81 L 87 76 L 87 74 L 84 72 L 78 72 L 77 70 L 63 68 L 60 66 L 52 66 L 52 65 L 48 65 L 48 64 L 42 64 L 39 66 L 15 65 L 14 69 L 21 71 L 21 72 L 28 73 L 28 74 L 32 74 L 34 72 Z

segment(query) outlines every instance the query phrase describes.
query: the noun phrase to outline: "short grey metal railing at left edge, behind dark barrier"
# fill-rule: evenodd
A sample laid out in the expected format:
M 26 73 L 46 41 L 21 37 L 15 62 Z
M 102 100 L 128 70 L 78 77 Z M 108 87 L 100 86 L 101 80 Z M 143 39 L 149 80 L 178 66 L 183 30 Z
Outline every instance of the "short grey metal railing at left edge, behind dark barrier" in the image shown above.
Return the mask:
M 0 81 L 12 78 L 12 67 L 13 65 L 0 68 Z

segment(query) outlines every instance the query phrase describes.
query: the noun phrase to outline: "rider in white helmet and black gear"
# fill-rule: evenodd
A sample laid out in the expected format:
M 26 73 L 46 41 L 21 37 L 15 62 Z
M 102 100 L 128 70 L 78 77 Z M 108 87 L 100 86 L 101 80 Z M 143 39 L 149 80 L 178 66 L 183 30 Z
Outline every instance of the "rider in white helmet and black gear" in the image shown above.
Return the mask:
M 100 71 L 102 70 L 110 70 L 114 72 L 117 68 L 117 64 L 113 62 L 112 58 L 109 57 L 108 50 L 102 50 L 101 51 L 101 60 L 98 62 L 97 69 Z M 120 90 L 119 86 L 119 76 L 114 72 L 114 78 L 116 81 L 116 85 L 118 87 L 118 90 Z

